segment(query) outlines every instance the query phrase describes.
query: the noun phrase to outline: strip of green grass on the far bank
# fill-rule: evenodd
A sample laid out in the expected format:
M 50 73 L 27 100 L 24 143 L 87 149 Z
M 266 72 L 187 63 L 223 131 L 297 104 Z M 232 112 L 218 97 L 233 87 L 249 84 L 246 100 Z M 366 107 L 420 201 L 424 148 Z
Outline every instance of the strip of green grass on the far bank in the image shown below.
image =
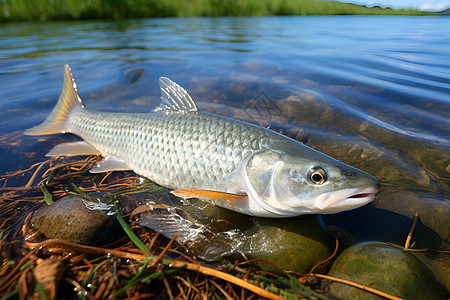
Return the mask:
M 317 0 L 0 0 L 0 21 L 268 15 L 435 15 Z

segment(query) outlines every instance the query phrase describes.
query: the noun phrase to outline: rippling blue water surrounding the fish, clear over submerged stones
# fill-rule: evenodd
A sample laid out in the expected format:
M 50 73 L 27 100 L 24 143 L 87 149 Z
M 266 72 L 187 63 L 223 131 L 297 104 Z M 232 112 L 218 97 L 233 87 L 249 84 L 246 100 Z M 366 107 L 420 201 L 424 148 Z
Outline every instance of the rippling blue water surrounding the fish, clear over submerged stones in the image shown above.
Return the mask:
M 0 168 L 41 161 L 62 138 L 21 132 L 52 109 L 64 64 L 86 106 L 105 111 L 149 111 L 167 76 L 201 109 L 281 130 L 380 180 L 372 204 L 327 225 L 402 244 L 418 211 L 415 247 L 448 249 L 448 36 L 447 17 L 1 24 Z M 256 119 L 249 108 L 260 109 Z M 422 259 L 448 286 L 448 258 Z

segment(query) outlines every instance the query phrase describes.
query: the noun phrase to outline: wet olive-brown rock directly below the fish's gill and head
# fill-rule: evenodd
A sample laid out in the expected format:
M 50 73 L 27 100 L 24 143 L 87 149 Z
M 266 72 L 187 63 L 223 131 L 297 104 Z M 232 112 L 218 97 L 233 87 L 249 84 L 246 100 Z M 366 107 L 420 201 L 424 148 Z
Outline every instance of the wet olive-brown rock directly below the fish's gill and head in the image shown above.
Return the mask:
M 249 259 L 263 259 L 281 269 L 307 273 L 330 256 L 330 241 L 314 216 L 291 219 L 254 219 L 245 234 L 243 250 Z M 278 269 L 257 264 L 266 271 Z

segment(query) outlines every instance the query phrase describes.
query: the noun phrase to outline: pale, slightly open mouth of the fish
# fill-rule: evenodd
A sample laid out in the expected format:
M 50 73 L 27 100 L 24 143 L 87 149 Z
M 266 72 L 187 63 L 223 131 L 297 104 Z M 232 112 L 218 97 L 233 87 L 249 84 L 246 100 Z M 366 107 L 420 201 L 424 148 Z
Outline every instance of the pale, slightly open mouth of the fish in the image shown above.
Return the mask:
M 323 213 L 336 213 L 366 205 L 375 199 L 376 187 L 348 188 L 318 195 L 314 203 Z

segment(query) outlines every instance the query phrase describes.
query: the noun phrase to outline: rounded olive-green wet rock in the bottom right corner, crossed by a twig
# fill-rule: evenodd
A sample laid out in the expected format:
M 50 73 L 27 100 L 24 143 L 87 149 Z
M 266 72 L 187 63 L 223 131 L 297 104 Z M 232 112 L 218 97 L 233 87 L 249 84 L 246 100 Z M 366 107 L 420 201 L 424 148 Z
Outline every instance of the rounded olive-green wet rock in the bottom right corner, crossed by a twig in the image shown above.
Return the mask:
M 362 242 L 347 248 L 330 276 L 347 279 L 404 299 L 446 299 L 447 290 L 411 253 L 385 243 Z M 346 299 L 383 299 L 346 284 L 332 282 L 330 291 Z

